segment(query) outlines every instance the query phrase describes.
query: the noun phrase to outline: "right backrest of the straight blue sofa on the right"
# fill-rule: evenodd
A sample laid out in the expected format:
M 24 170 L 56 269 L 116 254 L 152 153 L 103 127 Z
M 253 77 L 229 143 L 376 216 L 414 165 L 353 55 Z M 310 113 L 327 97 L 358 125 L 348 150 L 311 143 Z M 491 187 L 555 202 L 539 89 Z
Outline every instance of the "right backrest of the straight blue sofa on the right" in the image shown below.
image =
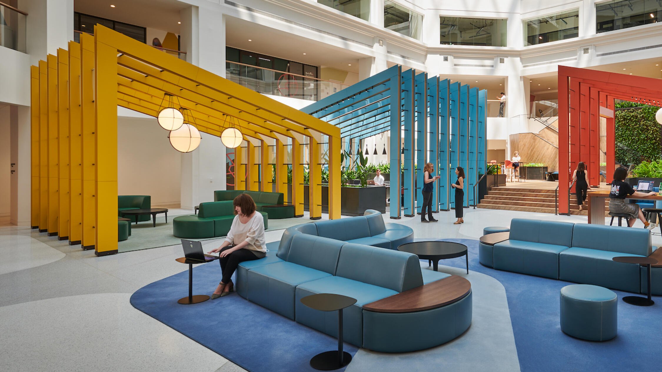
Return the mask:
M 633 227 L 577 223 L 572 246 L 648 256 L 651 254 L 651 232 Z

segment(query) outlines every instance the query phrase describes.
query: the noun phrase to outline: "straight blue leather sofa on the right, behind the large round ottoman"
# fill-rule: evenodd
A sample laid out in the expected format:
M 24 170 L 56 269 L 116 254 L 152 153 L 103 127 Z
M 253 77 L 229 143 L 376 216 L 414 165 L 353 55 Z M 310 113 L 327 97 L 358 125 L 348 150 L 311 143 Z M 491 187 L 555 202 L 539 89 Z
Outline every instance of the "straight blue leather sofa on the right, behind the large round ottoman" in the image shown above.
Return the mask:
M 513 219 L 510 239 L 479 254 L 498 270 L 639 292 L 639 267 L 612 258 L 648 256 L 651 237 L 631 227 Z

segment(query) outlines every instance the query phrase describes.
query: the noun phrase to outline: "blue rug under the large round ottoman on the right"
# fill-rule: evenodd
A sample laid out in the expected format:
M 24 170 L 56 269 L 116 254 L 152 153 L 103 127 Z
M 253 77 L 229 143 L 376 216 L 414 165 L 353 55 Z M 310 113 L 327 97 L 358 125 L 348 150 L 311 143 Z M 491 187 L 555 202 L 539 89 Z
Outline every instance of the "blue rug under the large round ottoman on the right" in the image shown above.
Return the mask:
M 496 278 L 505 287 L 522 371 L 662 369 L 661 297 L 653 297 L 655 305 L 651 307 L 637 307 L 622 301 L 632 293 L 614 291 L 618 295 L 618 336 L 606 342 L 579 340 L 561 332 L 559 323 L 559 293 L 573 283 L 486 268 L 478 260 L 478 241 L 441 240 L 465 244 L 469 248 L 469 270 Z M 442 260 L 440 264 L 464 268 L 465 258 Z

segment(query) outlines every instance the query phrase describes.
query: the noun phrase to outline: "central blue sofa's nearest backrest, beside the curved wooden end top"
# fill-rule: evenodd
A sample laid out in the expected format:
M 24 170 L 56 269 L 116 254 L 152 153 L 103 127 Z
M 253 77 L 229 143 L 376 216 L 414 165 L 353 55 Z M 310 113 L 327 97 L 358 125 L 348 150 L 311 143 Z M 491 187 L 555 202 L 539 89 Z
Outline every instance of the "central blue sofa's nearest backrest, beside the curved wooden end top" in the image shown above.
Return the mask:
M 345 243 L 336 276 L 402 292 L 423 285 L 416 254 L 376 246 Z

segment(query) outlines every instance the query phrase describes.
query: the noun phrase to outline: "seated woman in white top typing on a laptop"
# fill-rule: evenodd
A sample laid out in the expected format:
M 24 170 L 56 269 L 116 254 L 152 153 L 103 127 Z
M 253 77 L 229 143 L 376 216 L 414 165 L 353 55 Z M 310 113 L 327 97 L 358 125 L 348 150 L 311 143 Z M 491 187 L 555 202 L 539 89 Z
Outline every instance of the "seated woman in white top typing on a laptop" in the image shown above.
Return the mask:
M 267 255 L 264 241 L 264 219 L 255 210 L 255 202 L 248 194 L 239 194 L 234 198 L 234 220 L 230 232 L 221 246 L 209 251 L 220 252 L 220 271 L 222 279 L 216 287 L 212 299 L 229 295 L 234 291 L 232 274 L 242 261 L 257 260 Z

